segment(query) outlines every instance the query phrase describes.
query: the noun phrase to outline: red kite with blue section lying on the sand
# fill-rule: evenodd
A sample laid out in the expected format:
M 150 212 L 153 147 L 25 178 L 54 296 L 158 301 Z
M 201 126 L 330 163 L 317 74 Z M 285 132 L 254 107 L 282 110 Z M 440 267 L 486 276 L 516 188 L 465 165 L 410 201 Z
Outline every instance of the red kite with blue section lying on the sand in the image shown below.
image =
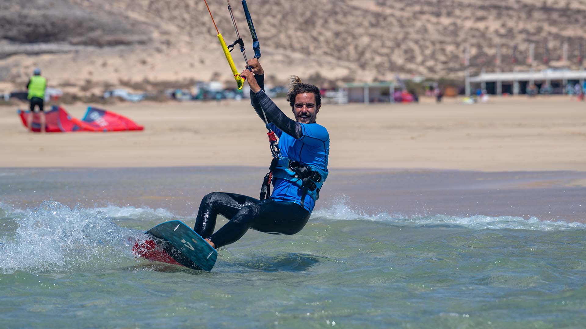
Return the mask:
M 28 120 L 32 115 L 32 131 L 41 131 L 41 116 L 39 112 L 31 114 L 30 111 L 18 110 L 21 116 L 22 124 L 28 129 Z M 45 112 L 45 131 L 46 132 L 74 132 L 74 131 L 139 131 L 143 130 L 131 119 L 114 112 L 103 109 L 87 109 L 83 121 L 73 118 L 62 107 L 53 105 L 50 111 Z

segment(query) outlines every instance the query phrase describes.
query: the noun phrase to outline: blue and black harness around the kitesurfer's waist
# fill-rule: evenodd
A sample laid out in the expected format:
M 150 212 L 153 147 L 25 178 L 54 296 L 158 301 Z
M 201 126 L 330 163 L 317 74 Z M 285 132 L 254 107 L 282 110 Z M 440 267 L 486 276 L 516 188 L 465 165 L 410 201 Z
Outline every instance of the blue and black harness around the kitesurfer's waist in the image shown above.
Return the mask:
M 291 181 L 301 189 L 301 207 L 305 202 L 305 196 L 309 195 L 314 201 L 319 199 L 319 190 L 323 186 L 322 174 L 317 170 L 294 161 L 288 157 L 273 157 L 271 166 L 263 179 L 260 189 L 260 200 L 270 197 L 272 178 L 280 178 Z

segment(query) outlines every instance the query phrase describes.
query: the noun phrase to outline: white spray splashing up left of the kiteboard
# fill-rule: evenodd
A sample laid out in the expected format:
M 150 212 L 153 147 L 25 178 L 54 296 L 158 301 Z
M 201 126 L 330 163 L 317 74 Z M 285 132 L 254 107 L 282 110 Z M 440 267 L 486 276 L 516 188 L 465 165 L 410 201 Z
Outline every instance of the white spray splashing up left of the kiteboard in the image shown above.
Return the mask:
M 120 227 L 113 218 L 152 213 L 134 207 L 71 209 L 55 201 L 24 211 L 5 205 L 1 208 L 2 273 L 103 268 L 132 262 L 128 238 L 141 239 L 142 231 Z M 15 231 L 6 232 L 14 224 Z

